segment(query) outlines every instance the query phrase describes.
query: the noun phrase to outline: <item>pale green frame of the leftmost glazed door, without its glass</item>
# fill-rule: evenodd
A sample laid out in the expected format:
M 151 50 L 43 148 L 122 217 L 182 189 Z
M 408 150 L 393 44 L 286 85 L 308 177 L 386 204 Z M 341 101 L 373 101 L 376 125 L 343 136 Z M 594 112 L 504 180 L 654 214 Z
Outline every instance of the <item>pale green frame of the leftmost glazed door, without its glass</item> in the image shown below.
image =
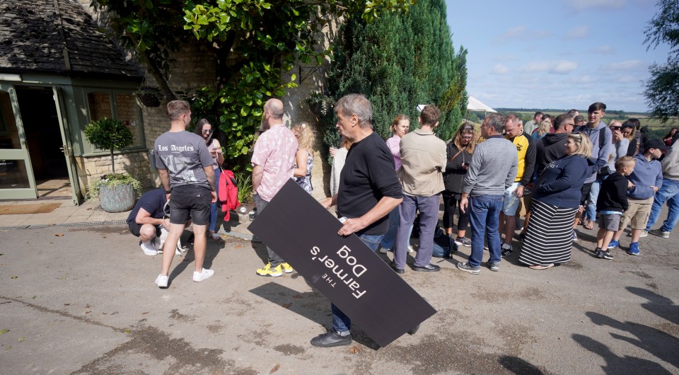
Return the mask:
M 6 83 L 0 83 L 0 91 L 4 91 L 9 94 L 19 143 L 21 144 L 21 149 L 0 149 L 0 160 L 23 161 L 23 165 L 26 168 L 26 174 L 28 177 L 28 188 L 0 189 L 0 199 L 15 200 L 37 198 L 35 176 L 33 175 L 33 167 L 30 164 L 30 156 L 28 154 L 28 146 L 26 144 L 26 134 L 23 131 L 23 122 L 21 121 L 19 102 L 16 100 L 16 91 L 14 90 L 13 85 L 8 85 Z

